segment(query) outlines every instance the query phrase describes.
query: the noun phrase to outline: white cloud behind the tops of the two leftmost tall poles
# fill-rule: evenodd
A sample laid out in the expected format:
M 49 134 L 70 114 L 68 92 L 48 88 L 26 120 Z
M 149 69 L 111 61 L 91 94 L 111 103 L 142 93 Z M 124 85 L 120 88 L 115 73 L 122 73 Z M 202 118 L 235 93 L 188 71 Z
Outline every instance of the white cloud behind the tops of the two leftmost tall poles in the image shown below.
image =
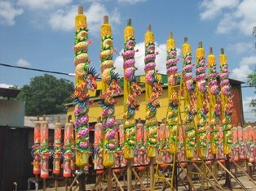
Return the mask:
M 87 25 L 91 34 L 99 32 L 100 25 L 103 23 L 103 15 L 108 15 L 111 19 L 110 24 L 119 24 L 120 15 L 117 9 L 113 12 L 108 12 L 103 4 L 94 2 L 85 12 L 87 18 Z M 68 10 L 58 10 L 51 15 L 49 24 L 54 30 L 69 31 L 74 28 L 74 18 L 77 15 L 77 7 L 71 7 Z M 98 33 L 97 33 L 98 35 Z

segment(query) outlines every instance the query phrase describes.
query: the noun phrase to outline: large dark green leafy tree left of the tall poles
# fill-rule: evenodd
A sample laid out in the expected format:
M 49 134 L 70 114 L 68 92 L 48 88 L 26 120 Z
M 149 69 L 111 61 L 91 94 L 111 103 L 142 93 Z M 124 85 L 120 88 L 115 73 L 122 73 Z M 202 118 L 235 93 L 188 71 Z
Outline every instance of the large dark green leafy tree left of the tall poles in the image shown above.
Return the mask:
M 72 102 L 70 96 L 74 90 L 73 82 L 48 74 L 33 77 L 21 89 L 17 99 L 26 102 L 25 115 L 65 113 L 64 103 Z

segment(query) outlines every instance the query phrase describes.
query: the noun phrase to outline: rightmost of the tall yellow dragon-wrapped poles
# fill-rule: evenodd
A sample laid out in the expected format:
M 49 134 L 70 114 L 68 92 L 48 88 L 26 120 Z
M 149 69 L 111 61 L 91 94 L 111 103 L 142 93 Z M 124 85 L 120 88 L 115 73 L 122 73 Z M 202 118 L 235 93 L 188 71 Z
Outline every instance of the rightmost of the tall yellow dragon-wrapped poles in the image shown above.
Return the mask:
M 221 88 L 221 103 L 222 103 L 222 125 L 223 125 L 223 151 L 224 154 L 231 153 L 232 147 L 232 92 L 231 86 L 228 80 L 228 65 L 227 65 L 227 55 L 224 54 L 224 49 L 221 49 L 221 54 L 219 55 L 220 64 L 220 88 Z

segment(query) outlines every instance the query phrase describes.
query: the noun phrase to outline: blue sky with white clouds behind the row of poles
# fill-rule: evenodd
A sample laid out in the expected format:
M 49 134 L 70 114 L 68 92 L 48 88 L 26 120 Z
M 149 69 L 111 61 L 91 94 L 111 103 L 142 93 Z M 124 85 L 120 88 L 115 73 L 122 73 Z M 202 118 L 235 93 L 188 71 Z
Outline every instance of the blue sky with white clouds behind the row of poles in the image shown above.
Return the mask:
M 91 66 L 98 72 L 99 27 L 104 15 L 109 15 L 113 26 L 117 52 L 122 50 L 126 20 L 132 19 L 139 49 L 137 74 L 143 74 L 143 36 L 148 24 L 152 24 L 155 33 L 160 72 L 166 73 L 165 43 L 170 31 L 178 48 L 183 37 L 188 37 L 193 54 L 198 41 L 203 41 L 206 54 L 213 46 L 217 58 L 220 48 L 224 48 L 233 79 L 246 81 L 256 68 L 256 40 L 252 36 L 252 28 L 256 26 L 255 0 L 1 0 L 0 63 L 73 73 L 73 28 L 79 5 L 84 7 L 89 38 L 93 41 L 89 47 Z M 121 57 L 115 54 L 114 59 L 117 71 L 122 73 Z M 0 66 L 0 85 L 22 87 L 39 75 L 43 73 Z M 249 111 L 252 98 L 256 98 L 254 89 L 243 89 L 245 119 L 250 121 L 255 120 Z

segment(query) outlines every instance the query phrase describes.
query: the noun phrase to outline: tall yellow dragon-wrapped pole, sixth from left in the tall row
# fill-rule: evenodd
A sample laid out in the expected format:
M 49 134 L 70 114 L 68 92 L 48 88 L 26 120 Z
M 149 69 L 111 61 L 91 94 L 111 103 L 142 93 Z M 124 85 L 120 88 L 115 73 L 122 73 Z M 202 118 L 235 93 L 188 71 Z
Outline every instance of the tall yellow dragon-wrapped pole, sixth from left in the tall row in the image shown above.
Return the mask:
M 196 148 L 196 129 L 193 124 L 194 115 L 196 114 L 196 100 L 194 80 L 192 79 L 192 54 L 191 47 L 188 44 L 188 38 L 184 38 L 182 46 L 183 52 L 183 81 L 185 83 L 184 97 L 186 118 L 183 123 L 184 128 L 184 150 L 188 160 L 195 157 Z

